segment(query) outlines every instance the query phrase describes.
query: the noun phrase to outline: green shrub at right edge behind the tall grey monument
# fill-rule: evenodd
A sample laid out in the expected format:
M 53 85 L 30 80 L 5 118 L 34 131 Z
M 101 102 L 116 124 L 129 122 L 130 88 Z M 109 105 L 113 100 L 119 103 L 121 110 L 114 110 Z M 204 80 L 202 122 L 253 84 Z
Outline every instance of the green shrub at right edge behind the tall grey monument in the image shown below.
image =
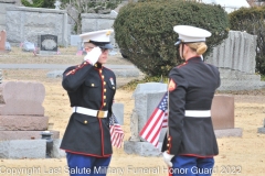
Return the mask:
M 256 73 L 265 75 L 265 7 L 241 8 L 229 18 L 231 30 L 257 35 Z

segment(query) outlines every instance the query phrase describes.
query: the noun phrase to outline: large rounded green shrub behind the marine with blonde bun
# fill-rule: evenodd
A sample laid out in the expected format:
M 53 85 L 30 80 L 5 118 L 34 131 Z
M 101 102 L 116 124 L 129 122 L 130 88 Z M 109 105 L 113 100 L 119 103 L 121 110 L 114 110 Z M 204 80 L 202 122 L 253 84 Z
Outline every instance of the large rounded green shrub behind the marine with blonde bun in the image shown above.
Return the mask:
M 115 22 L 115 38 L 128 59 L 149 76 L 168 75 L 180 64 L 174 25 L 193 25 L 212 32 L 208 53 L 227 37 L 229 18 L 220 6 L 177 0 L 128 3 Z M 205 53 L 205 54 L 208 54 Z

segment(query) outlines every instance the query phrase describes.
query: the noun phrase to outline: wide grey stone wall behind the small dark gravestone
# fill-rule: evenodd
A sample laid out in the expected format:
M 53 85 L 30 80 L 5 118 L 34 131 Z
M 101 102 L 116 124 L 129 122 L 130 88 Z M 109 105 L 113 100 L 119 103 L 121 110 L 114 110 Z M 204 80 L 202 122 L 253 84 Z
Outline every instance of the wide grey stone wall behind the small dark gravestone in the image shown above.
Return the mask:
M 57 35 L 59 45 L 68 45 L 68 24 L 65 10 L 44 8 L 7 8 L 7 41 L 20 44 L 29 41 L 38 43 L 38 35 Z

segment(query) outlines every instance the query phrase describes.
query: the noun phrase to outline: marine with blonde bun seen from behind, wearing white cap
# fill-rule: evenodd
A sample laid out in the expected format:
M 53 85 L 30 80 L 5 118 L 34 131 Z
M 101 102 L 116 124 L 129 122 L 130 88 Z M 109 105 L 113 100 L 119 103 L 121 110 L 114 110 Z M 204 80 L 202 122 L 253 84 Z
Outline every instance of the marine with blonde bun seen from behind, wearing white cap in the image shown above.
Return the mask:
M 169 74 L 169 121 L 163 160 L 173 176 L 209 176 L 219 154 L 211 105 L 220 86 L 220 73 L 202 61 L 206 51 L 203 29 L 177 25 L 179 52 L 186 62 Z

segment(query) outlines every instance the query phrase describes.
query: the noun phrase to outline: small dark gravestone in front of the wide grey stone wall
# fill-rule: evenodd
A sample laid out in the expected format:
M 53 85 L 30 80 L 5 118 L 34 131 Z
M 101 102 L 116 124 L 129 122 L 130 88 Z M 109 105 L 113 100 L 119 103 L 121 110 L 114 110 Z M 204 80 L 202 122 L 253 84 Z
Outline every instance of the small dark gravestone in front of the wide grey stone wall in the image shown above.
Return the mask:
M 57 54 L 57 36 L 45 34 L 38 36 L 39 54 Z

